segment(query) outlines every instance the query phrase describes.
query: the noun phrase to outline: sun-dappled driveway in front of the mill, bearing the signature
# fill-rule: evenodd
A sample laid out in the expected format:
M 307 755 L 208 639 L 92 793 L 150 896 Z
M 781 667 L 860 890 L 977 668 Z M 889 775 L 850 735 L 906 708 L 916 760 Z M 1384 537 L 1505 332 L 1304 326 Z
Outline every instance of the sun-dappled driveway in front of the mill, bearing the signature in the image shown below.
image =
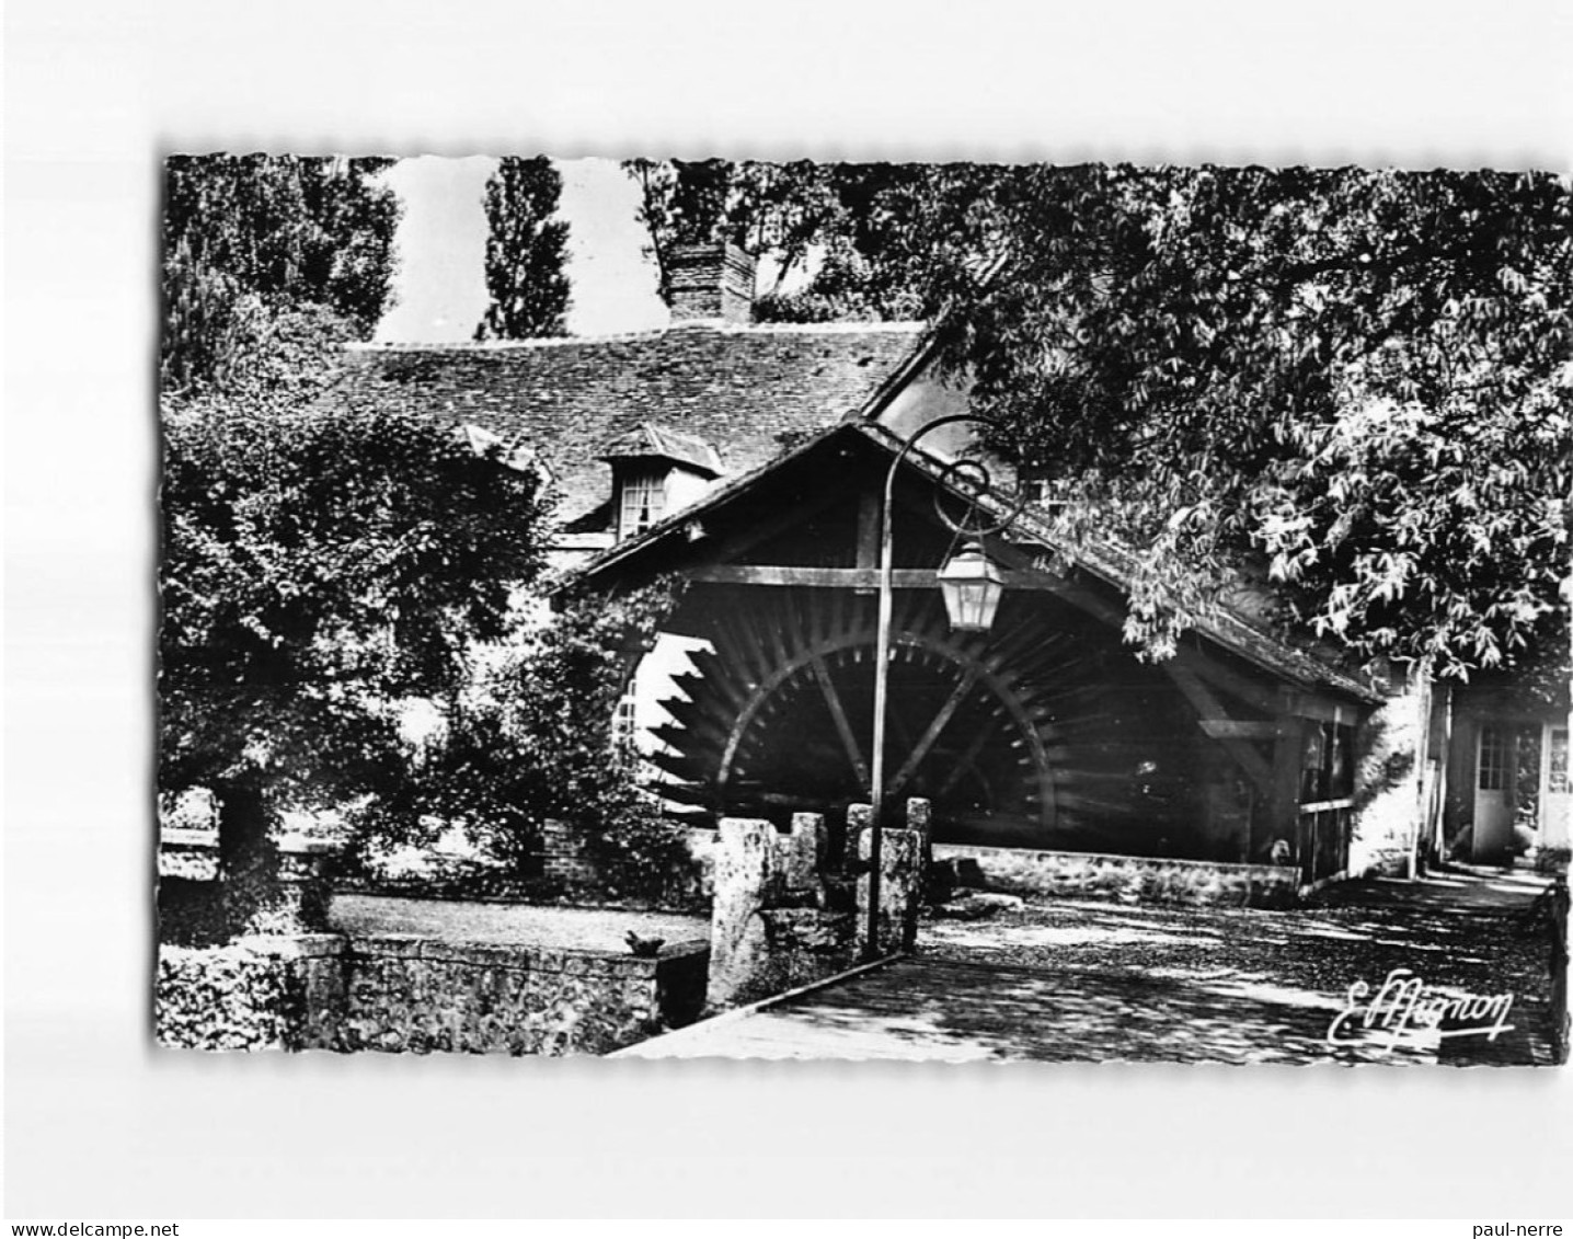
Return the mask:
M 1055 901 L 926 921 L 908 959 L 623 1055 L 1553 1063 L 1543 882 L 1488 881 L 1356 884 L 1291 912 Z

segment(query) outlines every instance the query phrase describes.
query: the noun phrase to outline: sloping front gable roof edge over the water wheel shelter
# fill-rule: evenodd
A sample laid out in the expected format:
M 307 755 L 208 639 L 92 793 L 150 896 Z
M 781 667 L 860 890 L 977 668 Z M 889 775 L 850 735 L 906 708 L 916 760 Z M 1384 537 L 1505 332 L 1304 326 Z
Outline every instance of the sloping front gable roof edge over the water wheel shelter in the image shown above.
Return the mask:
M 724 511 L 730 503 L 735 503 L 749 492 L 755 491 L 779 470 L 790 469 L 799 464 L 805 456 L 827 450 L 827 445 L 832 440 L 843 437 L 856 437 L 876 445 L 884 459 L 893 459 L 901 447 L 901 440 L 878 423 L 848 421 L 845 425 L 829 428 L 785 456 L 769 461 L 746 475 L 728 478 L 724 484 L 706 494 L 698 503 L 694 503 L 692 506 L 684 508 L 683 511 L 653 525 L 640 536 L 618 542 L 617 546 L 596 555 L 558 588 L 571 590 L 576 583 L 587 582 L 593 585 L 598 577 L 602 580 L 615 577 L 621 571 L 634 568 L 642 558 L 654 557 L 661 550 L 673 546 L 687 544 L 691 541 L 691 528 L 703 525 L 713 514 Z M 944 462 L 922 448 L 908 453 L 906 465 L 926 475 L 934 486 L 952 489 L 952 494 L 955 494 L 958 500 L 972 502 L 977 498 L 974 495 L 961 495 L 950 487 L 944 472 Z M 982 505 L 985 508 L 993 508 L 999 516 L 1004 516 L 1011 509 L 1005 500 L 993 498 L 989 495 L 982 497 Z M 1040 547 L 1046 552 L 1046 558 L 1065 555 L 1074 564 L 1076 574 L 1084 574 L 1092 580 L 1112 586 L 1120 594 L 1129 593 L 1129 585 L 1134 579 L 1134 561 L 1128 552 L 1123 552 L 1112 544 L 1093 547 L 1078 546 L 1074 549 L 1065 547 L 1054 533 L 1052 519 L 1032 505 L 1027 505 L 1015 514 L 1008 541 L 1015 546 Z M 1252 620 L 1236 615 L 1227 608 L 1219 608 L 1216 613 L 1200 620 L 1195 631 L 1206 640 L 1222 646 L 1246 662 L 1274 673 L 1284 681 L 1317 690 L 1331 690 L 1334 693 L 1357 698 L 1367 703 L 1381 700 L 1380 692 L 1346 675 L 1328 659 L 1313 651 L 1296 648 L 1295 645 L 1282 640 L 1279 635 L 1268 632 Z

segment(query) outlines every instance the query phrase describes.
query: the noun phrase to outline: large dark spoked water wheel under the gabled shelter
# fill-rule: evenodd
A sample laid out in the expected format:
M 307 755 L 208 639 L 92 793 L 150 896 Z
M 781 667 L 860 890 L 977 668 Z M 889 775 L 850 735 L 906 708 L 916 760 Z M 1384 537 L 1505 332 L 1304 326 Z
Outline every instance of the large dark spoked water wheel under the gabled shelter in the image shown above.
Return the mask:
M 933 591 L 897 596 L 886 753 L 890 802 L 925 796 L 936 825 L 1037 835 L 1057 813 L 1054 725 L 1068 642 L 1000 612 L 952 634 Z M 711 648 L 662 704 L 662 794 L 702 816 L 837 813 L 870 796 L 875 599 L 845 590 L 716 591 Z

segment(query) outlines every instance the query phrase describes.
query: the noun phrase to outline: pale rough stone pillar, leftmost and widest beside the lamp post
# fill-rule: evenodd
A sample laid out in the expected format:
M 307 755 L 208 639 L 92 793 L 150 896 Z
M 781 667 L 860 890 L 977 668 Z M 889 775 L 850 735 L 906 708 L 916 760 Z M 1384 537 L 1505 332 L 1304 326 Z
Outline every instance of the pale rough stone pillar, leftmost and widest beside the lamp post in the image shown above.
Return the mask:
M 758 818 L 722 818 L 716 832 L 716 895 L 709 921 L 713 1006 L 750 987 L 769 964 L 760 915 L 782 882 L 775 827 Z

